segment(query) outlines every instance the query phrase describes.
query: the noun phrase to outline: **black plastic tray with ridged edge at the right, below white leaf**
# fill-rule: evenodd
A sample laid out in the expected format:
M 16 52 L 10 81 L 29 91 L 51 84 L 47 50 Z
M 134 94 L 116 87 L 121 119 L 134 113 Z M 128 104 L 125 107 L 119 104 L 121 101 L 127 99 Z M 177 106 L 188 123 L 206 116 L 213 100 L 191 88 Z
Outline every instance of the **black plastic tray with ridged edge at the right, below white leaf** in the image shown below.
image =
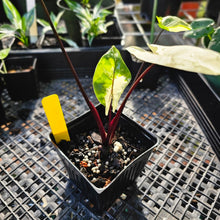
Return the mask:
M 177 82 L 190 110 L 220 160 L 220 98 L 201 74 L 179 71 Z

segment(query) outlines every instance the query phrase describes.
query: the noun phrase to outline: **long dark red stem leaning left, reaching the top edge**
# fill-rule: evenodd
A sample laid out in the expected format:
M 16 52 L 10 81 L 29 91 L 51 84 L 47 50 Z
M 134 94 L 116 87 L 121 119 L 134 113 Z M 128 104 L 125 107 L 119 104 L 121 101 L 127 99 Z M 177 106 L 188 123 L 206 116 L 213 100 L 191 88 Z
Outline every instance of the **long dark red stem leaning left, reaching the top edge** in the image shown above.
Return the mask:
M 102 120 L 101 120 L 101 118 L 99 116 L 99 113 L 98 113 L 97 109 L 95 108 L 95 106 L 92 104 L 92 102 L 89 100 L 85 90 L 82 87 L 82 84 L 81 84 L 81 82 L 79 80 L 77 72 L 76 72 L 76 70 L 75 70 L 75 68 L 74 68 L 74 66 L 73 66 L 73 64 L 72 64 L 72 62 L 71 62 L 71 60 L 69 58 L 69 55 L 66 53 L 66 50 L 65 50 L 65 48 L 63 46 L 63 43 L 62 43 L 62 41 L 61 41 L 61 39 L 60 39 L 60 37 L 59 37 L 59 35 L 58 35 L 54 25 L 53 25 L 53 22 L 51 21 L 50 14 L 49 14 L 49 12 L 47 10 L 47 7 L 46 7 L 46 5 L 45 5 L 43 0 L 41 0 L 41 4 L 42 4 L 42 6 L 44 8 L 44 11 L 46 13 L 46 16 L 47 16 L 47 18 L 49 20 L 49 23 L 50 23 L 50 26 L 51 26 L 51 28 L 53 30 L 53 33 L 56 36 L 57 41 L 59 42 L 60 48 L 61 48 L 61 50 L 62 50 L 62 52 L 63 52 L 63 54 L 64 54 L 64 56 L 65 56 L 65 58 L 66 58 L 66 60 L 67 60 L 67 62 L 69 64 L 69 66 L 70 66 L 70 69 L 71 69 L 71 71 L 73 73 L 73 76 L 74 76 L 74 78 L 76 80 L 76 83 L 77 83 L 77 85 L 78 85 L 78 87 L 80 89 L 80 92 L 82 93 L 83 98 L 85 99 L 88 107 L 90 108 L 90 110 L 91 110 L 91 112 L 92 112 L 92 114 L 93 114 L 93 116 L 95 118 L 95 121 L 96 121 L 96 123 L 98 125 L 98 128 L 99 128 L 99 131 L 100 131 L 102 142 L 105 143 L 106 142 L 106 132 L 105 132 Z

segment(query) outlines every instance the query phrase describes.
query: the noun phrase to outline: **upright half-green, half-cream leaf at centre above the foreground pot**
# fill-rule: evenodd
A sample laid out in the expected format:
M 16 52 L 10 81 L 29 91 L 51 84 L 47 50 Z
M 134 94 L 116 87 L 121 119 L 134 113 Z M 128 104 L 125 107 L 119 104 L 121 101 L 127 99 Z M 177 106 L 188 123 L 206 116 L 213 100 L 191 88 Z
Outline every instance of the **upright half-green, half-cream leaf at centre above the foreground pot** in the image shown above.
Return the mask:
M 106 115 L 110 105 L 112 111 L 131 80 L 131 73 L 120 52 L 112 46 L 99 60 L 93 76 L 93 89 L 99 102 L 105 106 Z

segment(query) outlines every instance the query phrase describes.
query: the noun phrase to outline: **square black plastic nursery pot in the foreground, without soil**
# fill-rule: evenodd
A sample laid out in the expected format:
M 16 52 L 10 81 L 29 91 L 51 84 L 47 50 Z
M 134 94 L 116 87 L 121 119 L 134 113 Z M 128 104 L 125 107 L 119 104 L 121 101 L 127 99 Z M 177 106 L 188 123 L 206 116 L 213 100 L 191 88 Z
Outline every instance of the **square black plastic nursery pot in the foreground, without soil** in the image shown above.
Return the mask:
M 101 118 L 107 118 L 104 116 L 104 107 L 99 105 L 97 107 Z M 59 148 L 59 144 L 56 145 L 53 135 L 51 134 L 51 140 L 56 146 L 59 156 L 61 157 L 69 178 L 82 190 L 82 193 L 90 202 L 94 205 L 93 210 L 99 214 L 105 211 L 114 200 L 121 195 L 123 190 L 134 183 L 135 179 L 139 176 L 140 172 L 144 168 L 146 161 L 148 160 L 152 150 L 158 144 L 158 139 L 146 131 L 140 125 L 122 114 L 119 125 L 121 129 L 127 130 L 129 135 L 137 138 L 140 149 L 143 150 L 135 160 L 133 160 L 126 168 L 124 168 L 106 187 L 98 188 L 93 185 L 82 172 L 67 158 L 65 152 Z M 69 134 L 71 140 L 76 138 L 77 134 L 89 129 L 96 128 L 96 122 L 93 120 L 93 115 L 90 111 L 78 117 L 68 125 Z M 143 149 L 144 148 L 144 149 Z

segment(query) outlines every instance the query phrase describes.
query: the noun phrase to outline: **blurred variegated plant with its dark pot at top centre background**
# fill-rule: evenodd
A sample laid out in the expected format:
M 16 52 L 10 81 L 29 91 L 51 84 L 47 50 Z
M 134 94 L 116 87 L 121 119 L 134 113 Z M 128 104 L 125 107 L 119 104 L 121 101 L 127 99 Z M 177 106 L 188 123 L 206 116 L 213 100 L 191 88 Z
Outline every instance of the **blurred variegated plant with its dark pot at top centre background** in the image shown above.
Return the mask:
M 72 0 L 65 0 L 65 3 L 79 19 L 83 46 L 109 45 L 112 41 L 114 41 L 113 44 L 121 44 L 121 31 L 117 20 L 112 16 L 109 17 L 112 12 L 102 7 L 102 1 L 92 10 L 87 6 L 88 4 L 81 5 Z M 112 30 L 109 30 L 111 28 Z M 97 41 L 101 43 L 98 44 Z

